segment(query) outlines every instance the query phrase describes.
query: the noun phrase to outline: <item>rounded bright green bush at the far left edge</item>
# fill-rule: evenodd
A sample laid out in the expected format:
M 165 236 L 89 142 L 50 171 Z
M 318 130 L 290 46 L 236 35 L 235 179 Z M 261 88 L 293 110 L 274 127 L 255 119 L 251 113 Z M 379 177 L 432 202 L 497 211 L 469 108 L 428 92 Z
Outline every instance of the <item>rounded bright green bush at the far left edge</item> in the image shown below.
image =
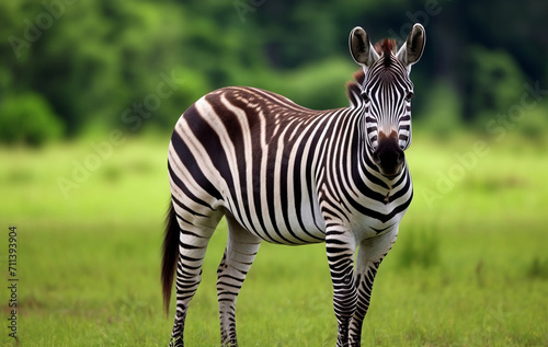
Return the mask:
M 64 125 L 38 94 L 9 95 L 0 102 L 0 141 L 39 146 L 59 139 Z

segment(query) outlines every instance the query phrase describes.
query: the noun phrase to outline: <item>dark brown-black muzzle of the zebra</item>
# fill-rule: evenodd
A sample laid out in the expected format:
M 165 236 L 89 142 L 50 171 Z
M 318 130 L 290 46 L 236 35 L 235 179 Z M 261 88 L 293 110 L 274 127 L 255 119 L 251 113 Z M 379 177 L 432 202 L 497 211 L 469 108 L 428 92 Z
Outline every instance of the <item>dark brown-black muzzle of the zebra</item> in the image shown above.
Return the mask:
M 392 131 L 389 137 L 379 132 L 378 147 L 373 152 L 373 161 L 385 176 L 396 176 L 403 167 L 406 155 L 398 143 L 398 135 Z

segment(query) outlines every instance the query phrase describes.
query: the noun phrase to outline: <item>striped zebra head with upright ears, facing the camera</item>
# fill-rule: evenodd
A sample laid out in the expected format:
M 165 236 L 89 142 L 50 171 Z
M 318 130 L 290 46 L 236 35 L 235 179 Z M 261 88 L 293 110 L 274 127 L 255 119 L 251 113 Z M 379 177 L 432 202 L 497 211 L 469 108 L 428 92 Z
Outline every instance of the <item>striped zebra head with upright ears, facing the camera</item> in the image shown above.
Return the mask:
M 368 153 L 385 176 L 403 167 L 403 151 L 411 144 L 411 66 L 424 50 L 426 35 L 414 24 L 406 43 L 397 50 L 396 41 L 373 46 L 367 33 L 356 26 L 350 34 L 352 58 L 363 67 L 362 99 Z

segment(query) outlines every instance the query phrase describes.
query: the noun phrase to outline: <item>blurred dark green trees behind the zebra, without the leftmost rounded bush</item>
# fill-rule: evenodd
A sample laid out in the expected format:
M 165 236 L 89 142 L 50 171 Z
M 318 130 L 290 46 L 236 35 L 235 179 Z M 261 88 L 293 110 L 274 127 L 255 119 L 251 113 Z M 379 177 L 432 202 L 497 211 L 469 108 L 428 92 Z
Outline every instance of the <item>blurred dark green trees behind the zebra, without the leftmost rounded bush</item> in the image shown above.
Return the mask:
M 484 15 L 492 8 L 496 13 Z M 546 10 L 535 0 L 503 5 L 494 0 L 4 1 L 0 100 L 41 95 L 66 137 L 90 129 L 171 129 L 199 96 L 235 84 L 278 91 L 312 108 L 339 107 L 347 104 L 344 82 L 357 68 L 347 53 L 352 27 L 364 26 L 373 42 L 401 41 L 420 21 L 429 44 L 413 67 L 421 91 L 414 107 L 422 115 L 431 93 L 445 94 L 438 96 L 455 111 L 435 102 L 429 106 L 430 114 L 444 114 L 430 117 L 444 136 L 463 119 L 482 128 L 484 119 L 518 100 L 525 80 L 548 76 L 548 46 L 529 44 L 541 42 Z M 153 99 L 160 76 L 173 71 L 184 82 Z M 447 86 L 437 92 L 432 81 L 439 80 Z M 534 126 L 524 128 L 527 136 L 534 132 Z

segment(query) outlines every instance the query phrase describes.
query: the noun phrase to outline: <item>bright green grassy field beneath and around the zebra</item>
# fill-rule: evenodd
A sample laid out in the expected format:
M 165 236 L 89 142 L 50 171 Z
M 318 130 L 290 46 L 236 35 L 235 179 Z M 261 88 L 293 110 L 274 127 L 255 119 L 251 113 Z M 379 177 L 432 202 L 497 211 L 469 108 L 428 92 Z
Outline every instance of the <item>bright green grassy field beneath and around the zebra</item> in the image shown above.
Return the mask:
M 167 346 L 174 310 L 162 312 L 159 265 L 168 138 L 0 148 L 1 346 L 18 345 L 8 335 L 12 224 L 21 346 Z M 477 140 L 414 135 L 407 155 L 415 196 L 378 273 L 365 346 L 548 346 L 548 148 Z M 225 240 L 221 223 L 187 346 L 218 345 Z M 237 316 L 241 346 L 334 346 L 323 246 L 263 244 Z

